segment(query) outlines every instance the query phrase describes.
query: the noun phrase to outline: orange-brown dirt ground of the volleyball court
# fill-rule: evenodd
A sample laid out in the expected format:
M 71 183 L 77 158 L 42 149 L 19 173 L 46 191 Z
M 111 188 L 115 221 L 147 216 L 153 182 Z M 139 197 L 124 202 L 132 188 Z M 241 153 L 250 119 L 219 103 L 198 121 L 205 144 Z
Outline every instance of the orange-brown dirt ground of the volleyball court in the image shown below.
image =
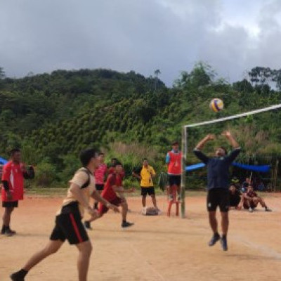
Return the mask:
M 272 213 L 261 207 L 253 214 L 230 211 L 228 251 L 222 251 L 219 243 L 207 246 L 211 231 L 204 196 L 187 197 L 185 219 L 166 216 L 166 197 L 158 197 L 161 216 L 141 215 L 139 197 L 128 201 L 128 220 L 135 226 L 122 229 L 120 214 L 110 211 L 89 231 L 93 242 L 89 281 L 280 280 L 280 195 L 266 197 Z M 11 224 L 18 234 L 0 236 L 1 281 L 9 280 L 9 273 L 46 244 L 61 202 L 61 197 L 35 196 L 20 202 Z M 26 280 L 77 280 L 76 259 L 76 247 L 65 242 L 58 253 L 32 269 Z

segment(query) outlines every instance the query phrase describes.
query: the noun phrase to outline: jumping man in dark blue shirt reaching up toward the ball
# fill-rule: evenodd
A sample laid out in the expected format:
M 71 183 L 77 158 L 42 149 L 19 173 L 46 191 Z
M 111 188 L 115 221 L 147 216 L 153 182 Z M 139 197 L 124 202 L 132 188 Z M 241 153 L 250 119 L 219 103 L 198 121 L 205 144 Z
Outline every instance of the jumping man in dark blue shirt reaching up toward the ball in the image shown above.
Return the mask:
M 227 155 L 225 148 L 216 149 L 216 157 L 209 158 L 200 150 L 208 141 L 214 140 L 214 135 L 207 135 L 197 144 L 194 153 L 195 155 L 207 165 L 208 178 L 208 195 L 207 195 L 207 209 L 209 211 L 209 223 L 213 230 L 213 237 L 209 242 L 209 246 L 216 244 L 221 240 L 221 247 L 223 251 L 228 250 L 226 235 L 228 233 L 228 209 L 229 209 L 229 191 L 228 191 L 228 174 L 229 166 L 240 153 L 240 146 L 230 131 L 223 133 L 228 139 L 234 150 Z M 221 211 L 221 228 L 222 237 L 218 234 L 218 222 L 216 221 L 216 208 L 219 207 Z

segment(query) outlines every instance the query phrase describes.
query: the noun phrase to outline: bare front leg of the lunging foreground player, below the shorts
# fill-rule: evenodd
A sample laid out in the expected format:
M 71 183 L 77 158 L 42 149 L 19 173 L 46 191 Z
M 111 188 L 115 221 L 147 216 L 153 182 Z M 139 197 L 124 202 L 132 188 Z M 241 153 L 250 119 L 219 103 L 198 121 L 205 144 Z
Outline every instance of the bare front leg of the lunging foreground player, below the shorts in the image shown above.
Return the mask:
M 78 276 L 79 281 L 86 281 L 88 270 L 89 270 L 89 261 L 92 252 L 92 245 L 90 240 L 76 244 L 77 249 L 79 250 L 79 256 L 77 260 Z

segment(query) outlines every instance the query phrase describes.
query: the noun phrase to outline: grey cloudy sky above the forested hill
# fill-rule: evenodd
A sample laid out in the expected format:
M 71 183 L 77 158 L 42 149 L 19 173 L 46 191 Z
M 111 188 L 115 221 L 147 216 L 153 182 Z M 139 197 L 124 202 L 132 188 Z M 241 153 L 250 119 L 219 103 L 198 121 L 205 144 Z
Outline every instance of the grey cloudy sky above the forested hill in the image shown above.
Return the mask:
M 171 86 L 199 60 L 242 79 L 281 68 L 280 0 L 0 0 L 8 77 L 57 69 L 159 69 Z

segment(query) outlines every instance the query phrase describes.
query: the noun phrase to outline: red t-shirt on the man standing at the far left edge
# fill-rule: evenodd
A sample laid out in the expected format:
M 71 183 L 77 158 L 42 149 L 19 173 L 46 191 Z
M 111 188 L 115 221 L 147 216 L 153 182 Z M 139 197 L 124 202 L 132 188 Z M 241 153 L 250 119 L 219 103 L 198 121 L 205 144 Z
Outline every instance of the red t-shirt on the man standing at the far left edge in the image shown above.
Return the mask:
M 9 161 L 3 167 L 2 181 L 8 181 L 9 189 L 13 199 L 10 201 L 23 200 L 23 170 L 22 164 Z M 6 191 L 2 192 L 2 201 L 8 202 Z

